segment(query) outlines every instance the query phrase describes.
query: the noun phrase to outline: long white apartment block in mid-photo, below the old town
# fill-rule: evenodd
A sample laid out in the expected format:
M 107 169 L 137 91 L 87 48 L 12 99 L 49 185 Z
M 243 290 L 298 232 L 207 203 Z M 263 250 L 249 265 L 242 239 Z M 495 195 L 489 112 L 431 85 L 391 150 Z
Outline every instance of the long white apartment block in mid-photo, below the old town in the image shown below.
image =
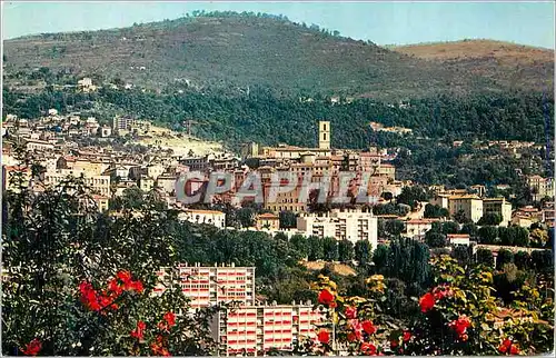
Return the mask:
M 377 223 L 378 219 L 373 211 L 332 209 L 326 213 L 301 213 L 297 218 L 297 230 L 305 236 L 332 237 L 354 243 L 368 240 L 373 248 L 376 248 Z

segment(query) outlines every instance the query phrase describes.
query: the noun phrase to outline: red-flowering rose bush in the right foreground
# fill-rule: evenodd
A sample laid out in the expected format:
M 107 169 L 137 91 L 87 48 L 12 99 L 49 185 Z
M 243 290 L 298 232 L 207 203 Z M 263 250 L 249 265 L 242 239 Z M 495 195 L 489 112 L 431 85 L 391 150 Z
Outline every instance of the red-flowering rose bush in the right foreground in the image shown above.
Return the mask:
M 512 307 L 493 295 L 493 271 L 467 270 L 447 256 L 430 262 L 434 286 L 417 299 L 420 314 L 399 322 L 383 315 L 386 285 L 380 275 L 367 279 L 368 295 L 345 297 L 328 277 L 319 276 L 318 309 L 327 321 L 305 346 L 319 355 L 534 355 L 553 347 L 552 301 L 539 300 L 525 285 Z M 526 296 L 526 297 L 525 297 Z

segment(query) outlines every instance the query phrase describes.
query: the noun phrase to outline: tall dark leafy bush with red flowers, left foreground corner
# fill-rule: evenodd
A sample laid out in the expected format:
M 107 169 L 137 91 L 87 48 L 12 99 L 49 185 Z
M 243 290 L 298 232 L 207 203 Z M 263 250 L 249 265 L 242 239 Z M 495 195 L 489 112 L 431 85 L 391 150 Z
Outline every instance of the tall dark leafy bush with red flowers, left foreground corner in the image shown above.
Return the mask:
M 195 356 L 215 351 L 217 308 L 185 315 L 179 286 L 153 295 L 172 267 L 171 212 L 97 212 L 79 180 L 3 198 L 2 354 Z

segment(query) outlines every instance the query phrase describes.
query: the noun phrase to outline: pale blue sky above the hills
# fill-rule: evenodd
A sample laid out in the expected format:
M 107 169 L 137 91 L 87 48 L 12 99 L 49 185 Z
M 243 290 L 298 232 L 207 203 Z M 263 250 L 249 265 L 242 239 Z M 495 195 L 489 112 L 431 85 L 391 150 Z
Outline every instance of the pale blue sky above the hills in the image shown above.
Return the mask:
M 2 1 L 2 37 L 176 19 L 193 10 L 285 14 L 377 44 L 493 39 L 554 49 L 554 2 Z

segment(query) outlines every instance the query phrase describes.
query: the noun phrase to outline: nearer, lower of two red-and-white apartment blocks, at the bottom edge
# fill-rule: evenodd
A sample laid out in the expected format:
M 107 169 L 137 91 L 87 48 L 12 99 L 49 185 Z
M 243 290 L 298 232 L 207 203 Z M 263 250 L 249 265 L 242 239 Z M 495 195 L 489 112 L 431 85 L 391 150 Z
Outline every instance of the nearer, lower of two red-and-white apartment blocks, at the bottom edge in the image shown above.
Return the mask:
M 325 316 L 311 302 L 244 306 L 220 311 L 211 331 L 219 356 L 265 356 L 271 349 L 291 351 L 297 342 L 315 337 Z

